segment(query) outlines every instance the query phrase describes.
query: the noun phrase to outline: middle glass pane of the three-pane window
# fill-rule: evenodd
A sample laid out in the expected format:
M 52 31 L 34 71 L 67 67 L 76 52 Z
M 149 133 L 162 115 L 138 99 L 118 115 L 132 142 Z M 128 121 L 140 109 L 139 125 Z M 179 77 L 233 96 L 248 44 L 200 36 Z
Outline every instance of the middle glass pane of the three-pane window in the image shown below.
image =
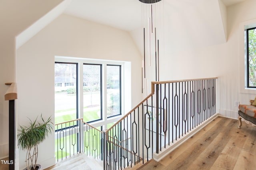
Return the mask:
M 102 119 L 101 65 L 84 64 L 84 121 Z

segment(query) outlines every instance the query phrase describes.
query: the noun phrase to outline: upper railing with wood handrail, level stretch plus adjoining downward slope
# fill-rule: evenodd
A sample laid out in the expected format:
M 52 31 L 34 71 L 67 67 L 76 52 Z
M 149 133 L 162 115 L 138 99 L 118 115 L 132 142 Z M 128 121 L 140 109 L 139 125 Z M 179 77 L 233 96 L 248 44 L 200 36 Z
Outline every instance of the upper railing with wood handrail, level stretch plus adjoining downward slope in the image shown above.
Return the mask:
M 216 113 L 216 78 L 152 82 L 151 88 L 146 99 L 104 132 L 104 169 L 144 164 Z

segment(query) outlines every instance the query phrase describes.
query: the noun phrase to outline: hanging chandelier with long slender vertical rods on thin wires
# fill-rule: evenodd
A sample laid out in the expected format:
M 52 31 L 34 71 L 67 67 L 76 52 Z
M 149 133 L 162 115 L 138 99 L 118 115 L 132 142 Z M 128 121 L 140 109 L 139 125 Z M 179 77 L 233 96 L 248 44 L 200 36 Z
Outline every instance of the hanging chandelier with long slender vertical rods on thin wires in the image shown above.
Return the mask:
M 163 21 L 161 21 L 163 12 L 163 1 L 161 0 L 139 0 L 142 2 L 142 27 L 143 27 L 143 59 L 142 59 L 142 93 L 144 82 L 148 92 L 148 74 L 155 72 L 155 81 L 159 81 L 159 37 Z M 162 3 L 159 4 L 157 2 Z M 158 31 L 158 33 L 156 33 Z M 162 31 L 163 32 L 163 31 Z M 153 57 L 155 59 L 153 59 Z M 148 65 L 147 65 L 148 63 Z M 146 68 L 147 67 L 147 68 Z M 152 80 L 153 81 L 153 80 Z

